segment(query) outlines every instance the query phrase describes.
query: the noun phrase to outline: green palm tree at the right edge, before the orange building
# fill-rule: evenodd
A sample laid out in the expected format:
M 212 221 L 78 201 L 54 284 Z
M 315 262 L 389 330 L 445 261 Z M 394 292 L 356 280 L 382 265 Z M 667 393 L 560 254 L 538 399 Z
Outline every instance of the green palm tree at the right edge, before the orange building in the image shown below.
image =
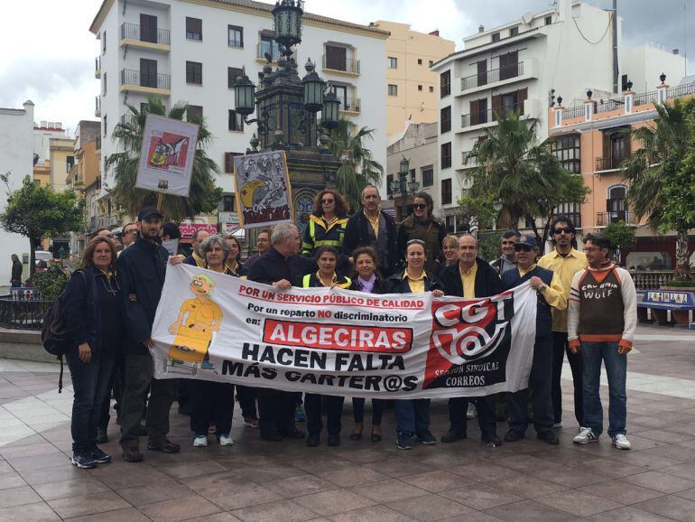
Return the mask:
M 695 228 L 695 100 L 657 106 L 654 126 L 632 131 L 639 148 L 622 164 L 627 203 L 660 233 L 676 232 L 676 280 L 690 280 L 688 230 Z

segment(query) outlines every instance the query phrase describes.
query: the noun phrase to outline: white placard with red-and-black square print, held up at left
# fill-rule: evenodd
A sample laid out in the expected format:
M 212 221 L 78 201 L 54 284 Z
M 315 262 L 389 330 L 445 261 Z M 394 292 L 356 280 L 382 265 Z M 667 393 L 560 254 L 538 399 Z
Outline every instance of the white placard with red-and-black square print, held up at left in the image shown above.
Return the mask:
M 135 187 L 189 197 L 199 126 L 148 114 Z

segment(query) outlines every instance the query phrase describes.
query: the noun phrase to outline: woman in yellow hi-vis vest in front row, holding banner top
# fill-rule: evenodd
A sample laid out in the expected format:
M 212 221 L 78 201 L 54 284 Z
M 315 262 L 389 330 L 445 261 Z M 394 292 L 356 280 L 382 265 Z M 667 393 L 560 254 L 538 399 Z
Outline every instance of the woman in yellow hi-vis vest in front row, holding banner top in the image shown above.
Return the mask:
M 316 251 L 316 263 L 319 271 L 304 275 L 301 286 L 304 288 L 333 287 L 348 288 L 352 281 L 345 275 L 336 274 L 338 264 L 338 248 L 331 246 L 320 247 Z M 320 443 L 320 433 L 323 428 L 321 420 L 321 402 L 328 406 L 329 446 L 340 444 L 340 419 L 343 416 L 343 396 L 323 396 L 320 394 L 304 394 L 304 409 L 307 413 L 307 446 L 315 447 Z

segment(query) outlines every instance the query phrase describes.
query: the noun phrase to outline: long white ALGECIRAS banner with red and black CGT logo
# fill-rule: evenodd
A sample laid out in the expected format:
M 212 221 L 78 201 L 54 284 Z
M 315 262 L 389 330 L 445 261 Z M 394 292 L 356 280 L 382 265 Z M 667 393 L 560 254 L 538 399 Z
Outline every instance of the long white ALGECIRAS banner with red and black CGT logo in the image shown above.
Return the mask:
M 155 378 L 378 398 L 486 396 L 527 387 L 537 296 L 280 291 L 168 266 L 153 325 Z

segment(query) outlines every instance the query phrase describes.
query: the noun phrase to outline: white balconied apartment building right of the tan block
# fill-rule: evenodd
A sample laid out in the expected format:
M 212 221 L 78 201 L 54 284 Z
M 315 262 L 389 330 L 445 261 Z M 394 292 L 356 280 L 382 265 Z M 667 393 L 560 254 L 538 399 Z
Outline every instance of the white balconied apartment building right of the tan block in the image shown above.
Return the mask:
M 486 129 L 496 126 L 497 114 L 518 111 L 535 123 L 542 142 L 551 127 L 548 107 L 555 99 L 563 98 L 565 107 L 580 112 L 588 89 L 597 99 L 610 98 L 614 86 L 620 89 L 629 78 L 646 78 L 654 64 L 663 66 L 667 75 L 683 69 L 682 57 L 673 59 L 670 52 L 622 51 L 621 25 L 620 16 L 614 20 L 610 10 L 559 0 L 553 9 L 524 14 L 493 29 L 480 26 L 464 39 L 463 51 L 435 62 L 440 96 L 435 208 L 441 217 L 456 214 L 466 172 L 476 166 L 468 154 Z M 454 194 L 450 203 L 449 191 Z M 579 215 L 579 209 L 564 210 Z

